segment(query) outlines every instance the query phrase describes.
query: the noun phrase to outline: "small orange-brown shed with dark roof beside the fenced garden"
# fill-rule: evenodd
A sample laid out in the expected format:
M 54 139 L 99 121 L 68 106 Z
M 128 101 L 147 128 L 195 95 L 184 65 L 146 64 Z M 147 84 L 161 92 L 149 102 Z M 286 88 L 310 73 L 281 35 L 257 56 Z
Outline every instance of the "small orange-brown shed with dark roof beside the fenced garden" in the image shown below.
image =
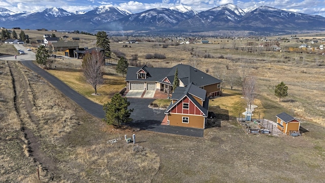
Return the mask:
M 300 121 L 298 119 L 285 112 L 276 115 L 276 117 L 277 128 L 284 134 L 299 133 Z

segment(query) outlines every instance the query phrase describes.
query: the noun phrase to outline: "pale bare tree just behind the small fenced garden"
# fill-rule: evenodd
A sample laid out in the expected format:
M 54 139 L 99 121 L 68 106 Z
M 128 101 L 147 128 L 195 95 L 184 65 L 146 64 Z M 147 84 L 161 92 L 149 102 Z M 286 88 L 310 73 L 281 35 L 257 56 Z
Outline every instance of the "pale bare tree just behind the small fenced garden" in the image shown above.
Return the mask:
M 247 77 L 243 85 L 243 96 L 247 102 L 247 108 L 251 108 L 256 98 L 256 79 L 255 77 Z

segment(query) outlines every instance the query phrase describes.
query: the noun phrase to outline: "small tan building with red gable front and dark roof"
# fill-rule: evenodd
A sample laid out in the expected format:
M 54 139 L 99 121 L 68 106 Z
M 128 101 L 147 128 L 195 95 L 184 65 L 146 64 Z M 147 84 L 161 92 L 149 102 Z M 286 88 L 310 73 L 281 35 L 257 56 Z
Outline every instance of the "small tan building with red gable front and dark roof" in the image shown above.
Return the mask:
M 168 125 L 205 128 L 209 106 L 206 90 L 190 83 L 186 87 L 177 87 L 171 100 L 164 119 Z

